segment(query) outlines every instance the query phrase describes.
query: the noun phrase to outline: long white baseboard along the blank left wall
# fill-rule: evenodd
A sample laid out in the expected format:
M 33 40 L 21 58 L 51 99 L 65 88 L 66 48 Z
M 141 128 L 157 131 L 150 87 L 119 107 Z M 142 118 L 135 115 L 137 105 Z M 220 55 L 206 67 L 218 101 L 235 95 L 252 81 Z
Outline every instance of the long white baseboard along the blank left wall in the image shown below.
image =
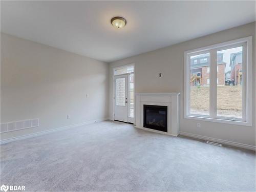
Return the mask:
M 109 117 L 108 118 L 103 118 L 103 119 L 95 119 L 95 120 L 86 121 L 86 122 L 77 123 L 77 124 L 71 124 L 71 125 L 67 125 L 67 126 L 58 127 L 56 129 L 31 133 L 31 134 L 28 134 L 28 135 L 12 137 L 12 138 L 9 138 L 9 139 L 0 140 L 0 144 L 6 144 L 6 143 L 17 141 L 17 140 L 27 139 L 27 138 L 31 138 L 31 137 L 35 137 L 35 136 L 39 136 L 39 135 L 45 135 L 45 134 L 48 134 L 48 133 L 51 133 L 51 132 L 56 132 L 56 131 L 59 131 L 59 130 L 62 130 L 62 129 L 68 129 L 70 127 L 76 127 L 76 126 L 96 123 L 96 122 L 105 121 L 105 120 L 109 120 Z

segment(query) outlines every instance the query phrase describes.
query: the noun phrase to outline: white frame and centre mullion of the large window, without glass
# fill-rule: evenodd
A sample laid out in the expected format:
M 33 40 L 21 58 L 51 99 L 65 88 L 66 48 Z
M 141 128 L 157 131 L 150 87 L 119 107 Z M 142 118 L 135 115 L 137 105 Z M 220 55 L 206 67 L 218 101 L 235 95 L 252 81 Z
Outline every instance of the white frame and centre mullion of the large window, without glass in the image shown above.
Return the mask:
M 245 46 L 246 44 L 246 46 Z M 242 119 L 217 115 L 217 51 L 233 47 L 243 48 Z M 190 114 L 190 56 L 209 53 L 210 87 L 209 115 Z M 245 77 L 245 78 L 244 78 Z M 211 122 L 252 126 L 252 36 L 222 42 L 184 52 L 184 118 Z

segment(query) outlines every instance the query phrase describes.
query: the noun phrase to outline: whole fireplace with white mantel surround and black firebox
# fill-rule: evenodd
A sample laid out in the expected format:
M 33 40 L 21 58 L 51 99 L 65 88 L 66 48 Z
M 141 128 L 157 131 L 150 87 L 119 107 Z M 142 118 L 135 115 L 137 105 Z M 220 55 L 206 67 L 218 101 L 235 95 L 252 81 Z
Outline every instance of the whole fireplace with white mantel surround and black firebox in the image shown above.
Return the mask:
M 179 135 L 180 117 L 179 95 L 180 93 L 135 93 L 135 127 L 147 131 L 155 131 L 153 127 L 154 129 L 157 127 L 157 130 L 161 131 L 159 133 L 177 137 Z M 150 107 L 148 111 L 146 111 L 147 107 Z M 160 113 L 159 108 L 161 108 Z M 157 109 L 158 112 L 156 111 Z M 154 118 L 150 121 L 150 118 L 154 116 L 152 111 L 155 111 L 155 116 L 160 114 L 161 118 L 162 115 L 165 116 L 164 126 L 161 126 L 161 124 L 160 126 L 155 126 L 152 123 Z

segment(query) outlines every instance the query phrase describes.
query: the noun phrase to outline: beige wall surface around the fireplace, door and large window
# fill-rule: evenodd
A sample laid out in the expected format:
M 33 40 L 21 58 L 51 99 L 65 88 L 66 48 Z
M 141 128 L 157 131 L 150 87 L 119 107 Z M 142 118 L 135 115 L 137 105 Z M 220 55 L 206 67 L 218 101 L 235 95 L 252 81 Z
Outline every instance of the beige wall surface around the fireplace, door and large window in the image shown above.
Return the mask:
M 184 52 L 247 36 L 253 36 L 252 126 L 184 119 Z M 110 117 L 113 116 L 112 69 L 130 63 L 135 63 L 135 93 L 181 92 L 180 131 L 255 146 L 255 22 L 110 63 Z M 197 122 L 201 123 L 200 129 Z

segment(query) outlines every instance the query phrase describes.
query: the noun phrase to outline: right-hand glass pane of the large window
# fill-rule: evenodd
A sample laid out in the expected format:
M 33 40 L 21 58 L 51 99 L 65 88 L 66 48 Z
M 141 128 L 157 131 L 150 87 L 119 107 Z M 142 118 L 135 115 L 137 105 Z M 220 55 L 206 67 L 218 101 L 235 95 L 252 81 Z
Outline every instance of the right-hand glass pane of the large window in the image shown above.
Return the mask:
M 242 118 L 243 47 L 217 52 L 217 115 Z

